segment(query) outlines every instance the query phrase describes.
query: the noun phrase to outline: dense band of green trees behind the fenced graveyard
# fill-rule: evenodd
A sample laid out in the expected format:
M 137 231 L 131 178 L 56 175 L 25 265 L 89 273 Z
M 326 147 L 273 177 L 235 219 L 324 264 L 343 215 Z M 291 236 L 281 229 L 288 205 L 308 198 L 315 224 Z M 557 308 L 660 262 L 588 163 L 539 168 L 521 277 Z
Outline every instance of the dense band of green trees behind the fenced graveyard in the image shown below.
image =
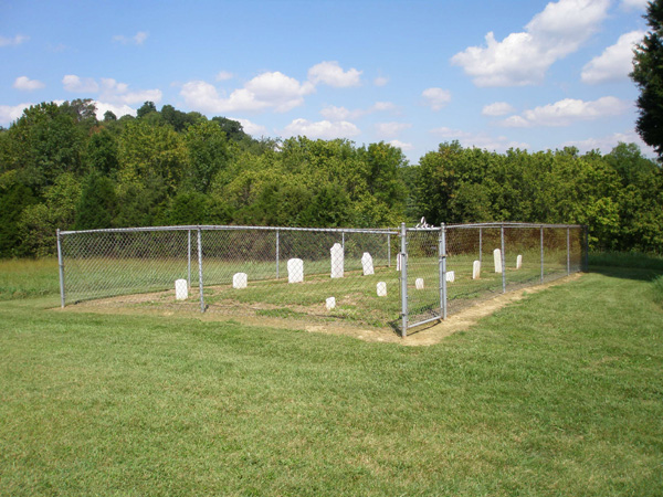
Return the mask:
M 240 123 L 146 103 L 95 117 L 43 103 L 0 129 L 0 256 L 49 255 L 55 231 L 169 224 L 590 225 L 596 247 L 661 252 L 663 175 L 635 145 L 529 154 L 442 144 L 419 166 L 385 142 L 253 139 Z

